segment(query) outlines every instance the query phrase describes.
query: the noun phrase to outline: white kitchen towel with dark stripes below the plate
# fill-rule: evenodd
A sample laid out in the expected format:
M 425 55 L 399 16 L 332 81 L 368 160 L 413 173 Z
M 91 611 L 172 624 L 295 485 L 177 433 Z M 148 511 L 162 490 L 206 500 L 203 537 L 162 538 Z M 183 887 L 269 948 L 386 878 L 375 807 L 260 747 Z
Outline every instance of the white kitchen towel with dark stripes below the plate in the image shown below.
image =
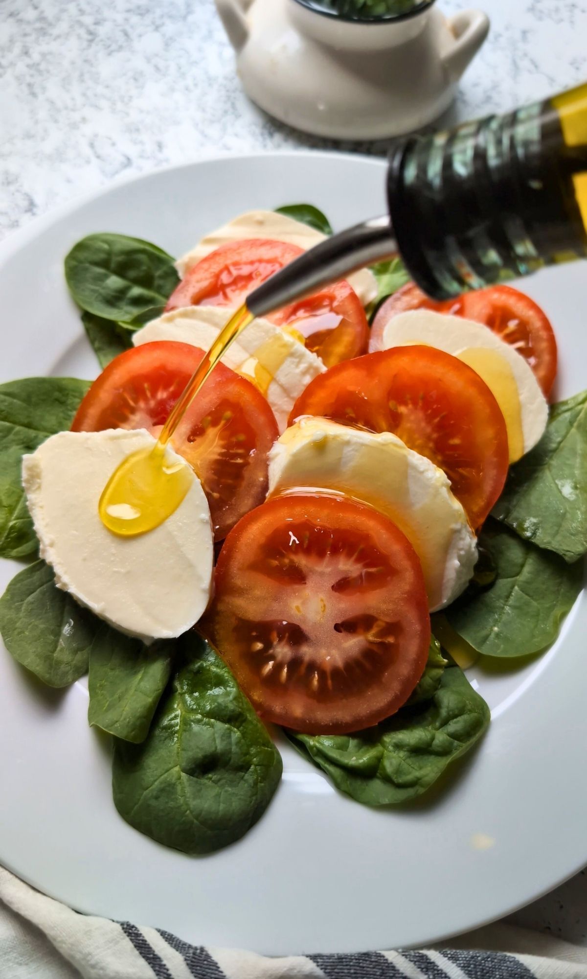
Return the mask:
M 483 950 L 483 951 L 478 951 Z M 497 951 L 499 950 L 499 951 Z M 78 914 L 0 867 L 1 979 L 587 979 L 587 949 L 511 925 L 451 948 L 266 958 Z

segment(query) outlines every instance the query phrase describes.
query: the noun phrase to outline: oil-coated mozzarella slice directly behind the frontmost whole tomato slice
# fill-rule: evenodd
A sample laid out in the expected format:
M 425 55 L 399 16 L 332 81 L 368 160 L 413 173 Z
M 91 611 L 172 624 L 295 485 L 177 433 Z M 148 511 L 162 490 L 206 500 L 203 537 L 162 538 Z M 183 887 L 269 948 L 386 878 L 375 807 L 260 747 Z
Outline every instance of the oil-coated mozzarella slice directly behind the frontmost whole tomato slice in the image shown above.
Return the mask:
M 301 418 L 269 454 L 269 492 L 296 487 L 338 489 L 389 517 L 420 558 L 431 611 L 472 578 L 475 537 L 448 479 L 391 433 Z

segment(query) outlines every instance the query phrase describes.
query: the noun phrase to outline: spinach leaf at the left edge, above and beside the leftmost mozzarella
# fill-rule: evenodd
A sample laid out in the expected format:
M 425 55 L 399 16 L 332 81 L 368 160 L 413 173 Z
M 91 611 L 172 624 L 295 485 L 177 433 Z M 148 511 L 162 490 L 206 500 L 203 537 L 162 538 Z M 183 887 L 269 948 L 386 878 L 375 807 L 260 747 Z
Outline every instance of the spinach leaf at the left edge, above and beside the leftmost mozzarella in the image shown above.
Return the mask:
M 22 558 L 37 549 L 21 482 L 24 452 L 68 429 L 89 381 L 28 377 L 0 385 L 0 556 Z

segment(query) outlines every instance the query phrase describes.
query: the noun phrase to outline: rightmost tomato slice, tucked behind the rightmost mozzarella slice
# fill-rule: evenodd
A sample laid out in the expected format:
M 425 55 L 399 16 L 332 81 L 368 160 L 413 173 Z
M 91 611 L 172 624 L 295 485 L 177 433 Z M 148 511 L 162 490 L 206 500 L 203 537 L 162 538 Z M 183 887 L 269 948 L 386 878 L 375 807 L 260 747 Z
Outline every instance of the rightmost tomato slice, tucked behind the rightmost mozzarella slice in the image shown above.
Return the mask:
M 545 396 L 557 373 L 557 341 L 551 322 L 537 303 L 511 286 L 490 286 L 453 300 L 436 302 L 408 282 L 382 304 L 373 321 L 369 350 L 383 349 L 384 328 L 399 312 L 433 309 L 483 323 L 519 351 L 532 368 Z

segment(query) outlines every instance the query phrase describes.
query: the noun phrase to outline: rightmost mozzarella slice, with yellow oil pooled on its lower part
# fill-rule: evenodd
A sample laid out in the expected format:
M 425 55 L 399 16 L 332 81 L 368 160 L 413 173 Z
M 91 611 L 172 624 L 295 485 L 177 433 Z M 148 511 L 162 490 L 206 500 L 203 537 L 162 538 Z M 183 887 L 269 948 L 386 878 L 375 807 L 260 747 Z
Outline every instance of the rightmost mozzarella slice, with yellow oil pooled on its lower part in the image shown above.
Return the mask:
M 452 353 L 485 381 L 506 420 L 510 462 L 516 462 L 539 441 L 548 421 L 548 403 L 518 350 L 482 323 L 431 309 L 401 312 L 386 324 L 383 350 L 410 344 L 427 344 Z

